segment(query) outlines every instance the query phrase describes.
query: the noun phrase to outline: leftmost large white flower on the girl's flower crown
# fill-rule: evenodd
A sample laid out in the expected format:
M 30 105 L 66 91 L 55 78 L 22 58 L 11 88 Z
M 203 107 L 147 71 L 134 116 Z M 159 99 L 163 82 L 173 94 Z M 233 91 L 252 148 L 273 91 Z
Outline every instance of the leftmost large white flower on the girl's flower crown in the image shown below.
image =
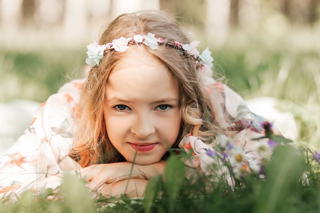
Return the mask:
M 99 66 L 100 60 L 103 58 L 104 50 L 106 49 L 106 45 L 98 45 L 96 41 L 87 45 L 87 54 L 88 58 L 86 58 L 85 62 L 90 66 Z

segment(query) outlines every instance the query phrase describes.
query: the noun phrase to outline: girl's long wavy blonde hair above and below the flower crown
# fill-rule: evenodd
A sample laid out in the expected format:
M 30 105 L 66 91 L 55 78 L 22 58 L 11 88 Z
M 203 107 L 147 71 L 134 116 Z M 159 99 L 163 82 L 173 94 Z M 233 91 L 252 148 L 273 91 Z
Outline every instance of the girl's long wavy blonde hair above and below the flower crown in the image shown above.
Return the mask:
M 112 42 L 121 36 L 153 33 L 165 41 L 190 43 L 186 33 L 173 18 L 160 11 L 140 11 L 118 16 L 103 32 L 99 44 Z M 106 83 L 109 74 L 121 58 L 132 54 L 137 45 L 130 45 L 130 51 L 107 53 L 100 65 L 90 69 L 82 86 L 80 97 L 79 130 L 75 135 L 74 158 L 82 167 L 94 163 L 123 161 L 124 158 L 110 143 L 103 118 Z M 159 45 L 151 50 L 145 45 L 145 51 L 161 61 L 176 80 L 180 95 L 182 122 L 180 133 L 174 147 L 186 133 L 210 143 L 216 132 L 213 109 L 205 95 L 195 67 L 195 61 L 188 55 L 169 45 Z

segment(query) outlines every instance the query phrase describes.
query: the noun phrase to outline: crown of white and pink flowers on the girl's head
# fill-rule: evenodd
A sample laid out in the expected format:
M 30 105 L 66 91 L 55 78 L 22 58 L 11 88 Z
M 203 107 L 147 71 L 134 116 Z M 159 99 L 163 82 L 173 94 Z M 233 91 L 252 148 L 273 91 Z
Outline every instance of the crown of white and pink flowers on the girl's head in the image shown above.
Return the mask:
M 152 50 L 156 50 L 158 48 L 158 44 L 166 43 L 172 46 L 173 48 L 182 50 L 189 55 L 192 56 L 192 58 L 196 61 L 195 63 L 200 63 L 200 66 L 198 69 L 202 70 L 211 70 L 211 67 L 213 66 L 213 58 L 211 57 L 211 52 L 209 51 L 209 48 L 202 51 L 201 55 L 199 55 L 199 51 L 196 49 L 197 46 L 199 46 L 199 41 L 192 41 L 190 44 L 181 44 L 177 41 L 174 43 L 169 41 L 164 41 L 162 38 L 155 38 L 154 34 L 148 33 L 147 36 L 145 35 L 134 35 L 133 38 L 118 38 L 114 39 L 111 43 L 98 45 L 96 41 L 93 43 L 90 43 L 87 45 L 87 54 L 88 58 L 86 58 L 85 62 L 90 65 L 91 67 L 99 66 L 100 60 L 103 58 L 104 54 L 110 51 L 117 51 L 117 52 L 125 52 L 130 44 L 133 43 L 143 43 Z M 208 74 L 212 75 L 211 74 Z

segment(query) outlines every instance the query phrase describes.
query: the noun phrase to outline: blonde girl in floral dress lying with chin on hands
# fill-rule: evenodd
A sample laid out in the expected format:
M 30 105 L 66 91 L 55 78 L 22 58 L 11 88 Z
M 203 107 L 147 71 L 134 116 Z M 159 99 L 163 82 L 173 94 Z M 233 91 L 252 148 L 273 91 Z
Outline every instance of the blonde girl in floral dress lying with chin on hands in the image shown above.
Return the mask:
M 208 175 L 216 145 L 234 173 L 258 171 L 265 141 L 250 139 L 261 136 L 263 120 L 212 79 L 211 53 L 198 45 L 162 12 L 117 17 L 99 45 L 87 46 L 85 78 L 43 103 L 3 157 L 0 193 L 55 188 L 77 171 L 104 195 L 119 196 L 128 183 L 129 196 L 142 196 L 170 148 L 191 151 L 185 163 Z

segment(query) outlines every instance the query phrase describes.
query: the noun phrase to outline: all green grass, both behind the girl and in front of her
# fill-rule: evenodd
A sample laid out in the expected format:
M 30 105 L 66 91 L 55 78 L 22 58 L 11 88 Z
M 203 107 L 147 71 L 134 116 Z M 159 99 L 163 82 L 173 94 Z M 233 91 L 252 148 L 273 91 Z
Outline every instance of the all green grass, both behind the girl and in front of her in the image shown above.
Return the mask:
M 18 202 L 3 201 L 0 212 L 319 212 L 319 163 L 312 155 L 320 139 L 320 52 L 301 50 L 284 40 L 271 45 L 263 39 L 235 43 L 213 51 L 216 75 L 225 75 L 230 79 L 227 84 L 246 99 L 278 98 L 279 110 L 292 111 L 298 125 L 294 144 L 300 152 L 291 146 L 277 148 L 266 164 L 265 180 L 248 175 L 238 179 L 237 187 L 202 176 L 187 181 L 183 165 L 173 157 L 167 164 L 166 181 L 161 176 L 152 178 L 141 199 L 90 199 L 83 183 L 67 176 L 58 194 L 26 192 Z M 44 101 L 67 76 L 80 76 L 84 52 L 1 50 L 0 88 L 6 92 L 0 100 Z M 301 178 L 303 172 L 309 184 Z

